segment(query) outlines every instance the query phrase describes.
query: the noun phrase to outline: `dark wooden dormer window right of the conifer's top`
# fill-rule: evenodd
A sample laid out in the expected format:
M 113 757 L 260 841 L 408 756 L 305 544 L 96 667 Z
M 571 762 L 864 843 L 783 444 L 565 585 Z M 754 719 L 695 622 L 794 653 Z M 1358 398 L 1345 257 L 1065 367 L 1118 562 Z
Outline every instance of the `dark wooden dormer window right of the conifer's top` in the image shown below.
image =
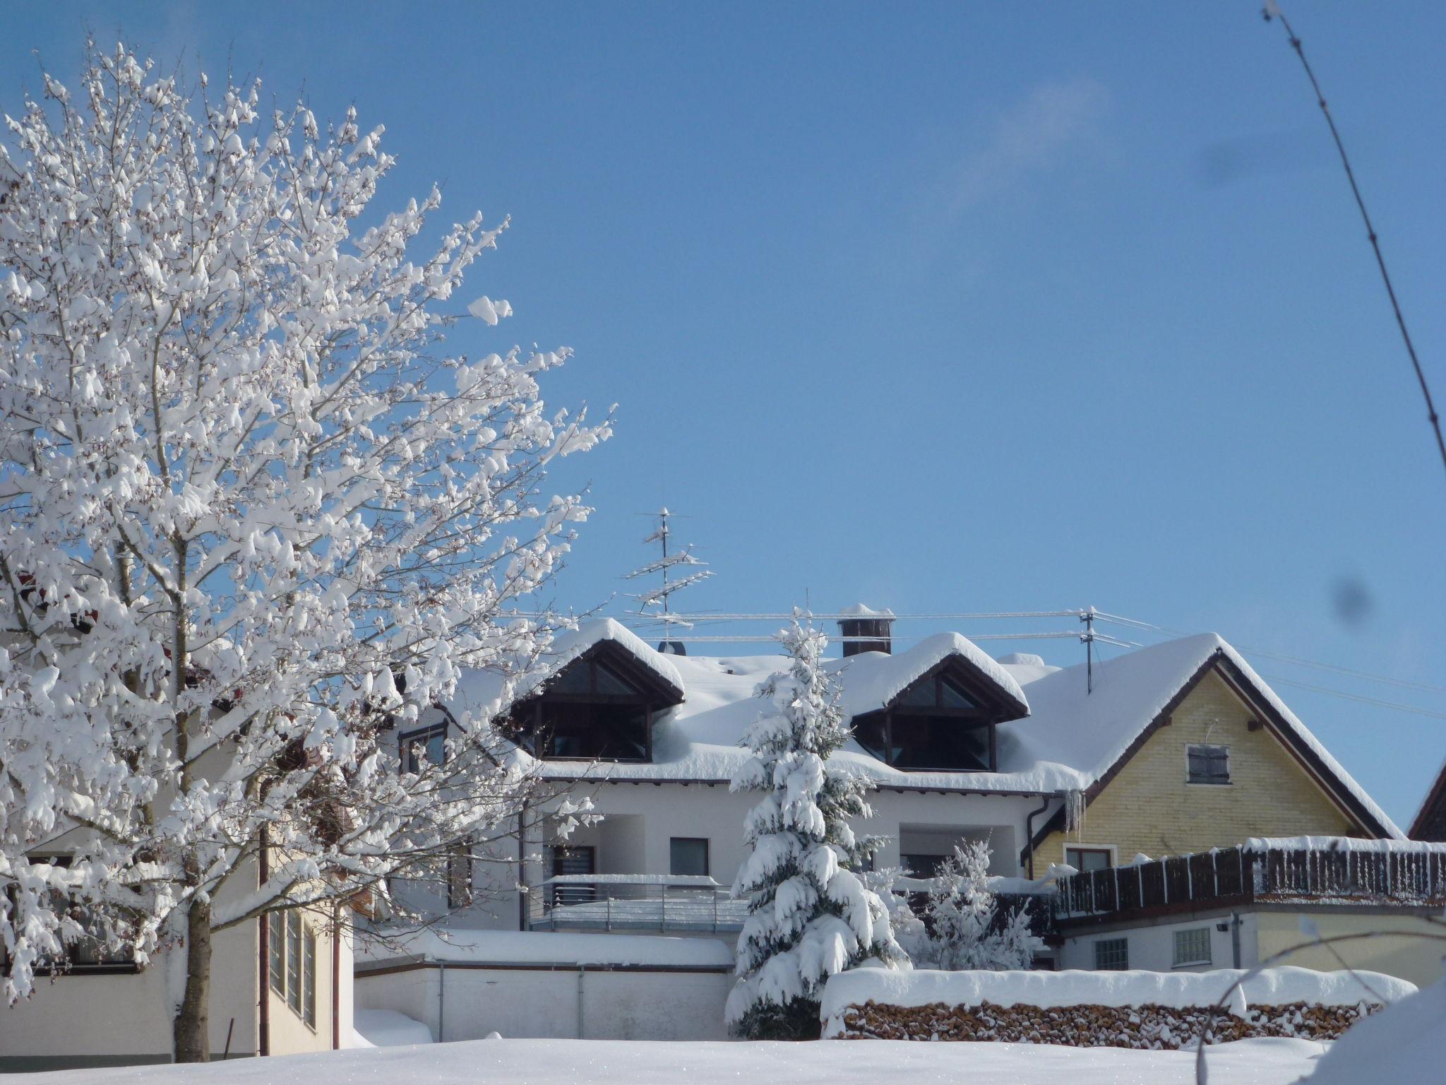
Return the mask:
M 992 705 L 977 689 L 963 667 L 946 660 L 882 712 L 855 716 L 853 736 L 894 768 L 998 771 L 995 725 L 1019 713 Z

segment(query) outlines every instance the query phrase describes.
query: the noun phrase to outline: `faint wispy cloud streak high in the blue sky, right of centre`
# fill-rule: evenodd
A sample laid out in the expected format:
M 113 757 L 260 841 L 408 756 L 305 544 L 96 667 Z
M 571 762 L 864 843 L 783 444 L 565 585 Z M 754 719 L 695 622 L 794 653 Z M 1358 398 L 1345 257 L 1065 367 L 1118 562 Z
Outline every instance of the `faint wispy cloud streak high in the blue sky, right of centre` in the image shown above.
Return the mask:
M 957 216 L 1054 166 L 1071 146 L 1095 135 L 1108 110 L 1109 91 L 1095 80 L 1035 87 L 999 113 L 989 142 L 964 161 L 951 185 L 950 211 Z

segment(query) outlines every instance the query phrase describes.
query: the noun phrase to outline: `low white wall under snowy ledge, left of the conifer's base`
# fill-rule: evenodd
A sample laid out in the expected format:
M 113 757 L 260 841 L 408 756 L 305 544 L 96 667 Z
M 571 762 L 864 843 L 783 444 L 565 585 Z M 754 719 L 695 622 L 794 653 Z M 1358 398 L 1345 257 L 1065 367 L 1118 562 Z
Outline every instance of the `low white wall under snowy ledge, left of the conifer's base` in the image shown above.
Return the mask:
M 516 1039 L 722 1040 L 732 987 L 730 972 L 427 965 L 359 975 L 356 1004 L 403 1013 L 441 1040 L 479 1040 L 490 1031 Z

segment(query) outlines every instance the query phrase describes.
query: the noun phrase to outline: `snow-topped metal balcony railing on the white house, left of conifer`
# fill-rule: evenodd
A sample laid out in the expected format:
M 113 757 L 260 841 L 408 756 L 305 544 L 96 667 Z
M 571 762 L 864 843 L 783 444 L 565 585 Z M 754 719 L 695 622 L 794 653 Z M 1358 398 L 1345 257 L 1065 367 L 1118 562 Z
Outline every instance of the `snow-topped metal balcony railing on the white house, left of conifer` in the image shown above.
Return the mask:
M 532 930 L 729 933 L 748 906 L 707 875 L 557 874 L 528 891 Z

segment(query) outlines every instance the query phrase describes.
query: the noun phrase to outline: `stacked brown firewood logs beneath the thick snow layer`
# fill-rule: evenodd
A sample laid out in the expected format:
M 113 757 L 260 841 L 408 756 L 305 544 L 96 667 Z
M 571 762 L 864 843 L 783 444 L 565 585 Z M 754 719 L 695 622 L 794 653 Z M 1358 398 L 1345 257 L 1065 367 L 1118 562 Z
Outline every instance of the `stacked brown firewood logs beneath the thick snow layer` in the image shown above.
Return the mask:
M 1200 1036 L 1225 1043 L 1257 1036 L 1339 1039 L 1379 1005 L 1255 1005 L 1245 1017 L 1173 1005 L 886 1005 L 868 1001 L 843 1013 L 849 1040 L 1001 1040 L 1070 1047 L 1192 1049 Z

